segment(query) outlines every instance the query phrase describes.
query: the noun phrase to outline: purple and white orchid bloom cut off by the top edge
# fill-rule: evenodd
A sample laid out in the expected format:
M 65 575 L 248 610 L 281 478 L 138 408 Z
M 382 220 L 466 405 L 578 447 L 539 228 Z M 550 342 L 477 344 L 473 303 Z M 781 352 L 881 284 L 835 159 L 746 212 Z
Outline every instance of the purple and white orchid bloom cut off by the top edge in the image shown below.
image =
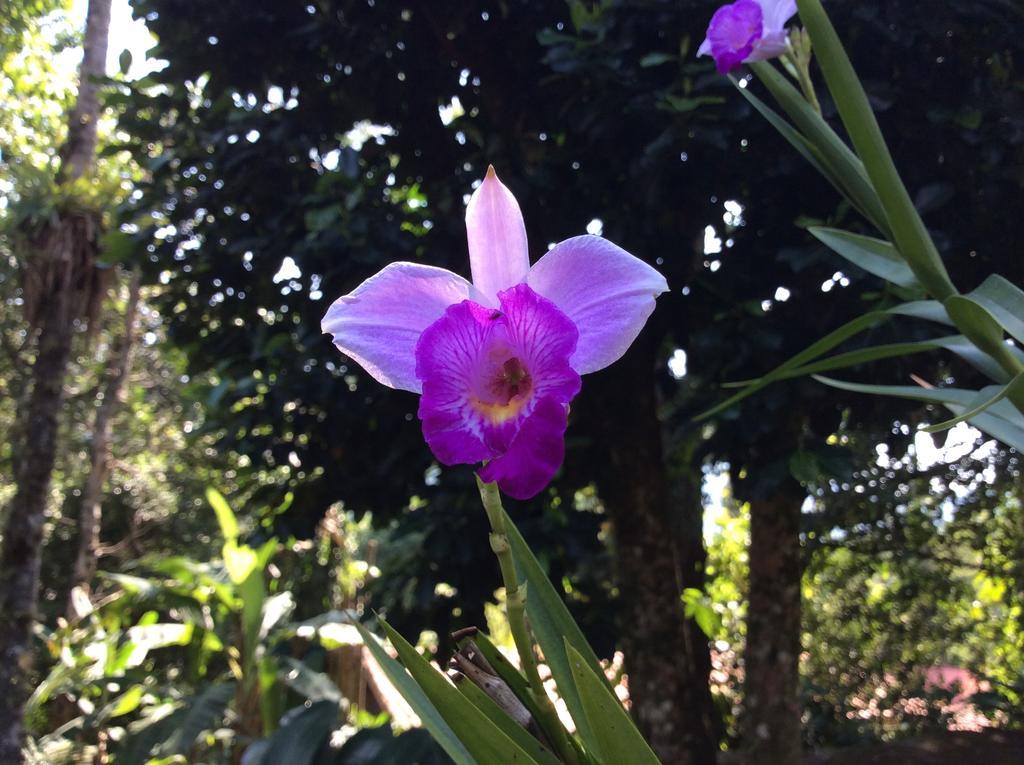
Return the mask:
M 711 55 L 721 74 L 746 61 L 763 61 L 785 52 L 785 23 L 797 12 L 797 0 L 736 0 L 723 5 L 708 25 L 697 55 Z

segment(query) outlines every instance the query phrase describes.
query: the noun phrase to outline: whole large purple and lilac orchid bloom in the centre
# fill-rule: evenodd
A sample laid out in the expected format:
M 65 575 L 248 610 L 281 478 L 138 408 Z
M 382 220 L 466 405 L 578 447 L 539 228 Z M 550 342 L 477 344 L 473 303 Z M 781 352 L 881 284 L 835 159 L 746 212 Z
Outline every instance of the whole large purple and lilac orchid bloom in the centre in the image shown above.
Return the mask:
M 580 375 L 626 352 L 668 284 L 600 237 L 565 240 L 531 267 L 519 205 L 494 168 L 466 229 L 472 283 L 391 263 L 322 326 L 378 382 L 422 394 L 423 435 L 440 462 L 485 462 L 481 479 L 528 499 L 562 463 Z

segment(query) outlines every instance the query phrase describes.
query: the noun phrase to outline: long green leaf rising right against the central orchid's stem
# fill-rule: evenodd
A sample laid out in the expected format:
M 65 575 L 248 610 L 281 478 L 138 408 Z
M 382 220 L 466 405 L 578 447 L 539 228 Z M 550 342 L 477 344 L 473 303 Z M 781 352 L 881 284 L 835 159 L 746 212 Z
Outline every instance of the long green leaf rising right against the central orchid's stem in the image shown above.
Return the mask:
M 569 614 L 558 591 L 548 580 L 548 576 L 534 556 L 526 541 L 519 534 L 519 529 L 516 528 L 504 509 L 502 509 L 502 514 L 505 516 L 505 527 L 516 569 L 520 580 L 526 582 L 526 615 L 529 619 L 529 626 L 532 628 L 537 643 L 544 653 L 544 660 L 551 668 L 551 674 L 558 685 L 558 693 L 565 702 L 565 706 L 577 724 L 580 737 L 589 749 L 595 740 L 595 731 L 590 728 L 583 699 L 577 691 L 565 645 L 571 645 L 593 667 L 600 667 L 600 662 L 583 636 L 580 627 Z M 605 683 L 607 684 L 607 679 L 605 679 Z M 607 688 L 610 693 L 611 685 L 607 684 Z

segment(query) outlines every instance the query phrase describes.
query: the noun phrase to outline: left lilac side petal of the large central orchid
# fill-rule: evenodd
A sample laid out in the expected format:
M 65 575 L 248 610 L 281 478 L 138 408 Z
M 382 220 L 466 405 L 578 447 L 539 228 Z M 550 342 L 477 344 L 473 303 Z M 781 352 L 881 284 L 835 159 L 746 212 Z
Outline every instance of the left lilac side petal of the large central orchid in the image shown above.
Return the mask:
M 338 298 L 321 324 L 338 349 L 380 383 L 420 392 L 416 343 L 452 303 L 476 298 L 473 286 L 443 268 L 391 263 Z

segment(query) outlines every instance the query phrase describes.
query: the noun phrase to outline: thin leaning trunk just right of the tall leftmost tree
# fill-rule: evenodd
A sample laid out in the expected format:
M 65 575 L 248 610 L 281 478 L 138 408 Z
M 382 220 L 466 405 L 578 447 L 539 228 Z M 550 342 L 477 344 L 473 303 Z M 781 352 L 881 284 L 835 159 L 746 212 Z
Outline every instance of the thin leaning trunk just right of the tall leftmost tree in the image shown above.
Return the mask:
M 106 384 L 102 399 L 96 409 L 96 419 L 92 426 L 92 447 L 90 450 L 89 477 L 82 496 L 81 517 L 78 523 L 78 557 L 71 580 L 71 594 L 68 600 L 69 621 L 81 614 L 75 608 L 75 592 L 86 597 L 89 583 L 96 572 L 96 553 L 99 549 L 99 533 L 102 519 L 103 484 L 110 473 L 111 464 L 111 422 L 121 399 L 121 390 L 131 369 L 131 354 L 135 344 L 135 314 L 138 309 L 139 272 L 132 272 L 128 285 L 128 303 L 125 306 L 125 330 L 119 343 L 112 351 L 106 368 Z

